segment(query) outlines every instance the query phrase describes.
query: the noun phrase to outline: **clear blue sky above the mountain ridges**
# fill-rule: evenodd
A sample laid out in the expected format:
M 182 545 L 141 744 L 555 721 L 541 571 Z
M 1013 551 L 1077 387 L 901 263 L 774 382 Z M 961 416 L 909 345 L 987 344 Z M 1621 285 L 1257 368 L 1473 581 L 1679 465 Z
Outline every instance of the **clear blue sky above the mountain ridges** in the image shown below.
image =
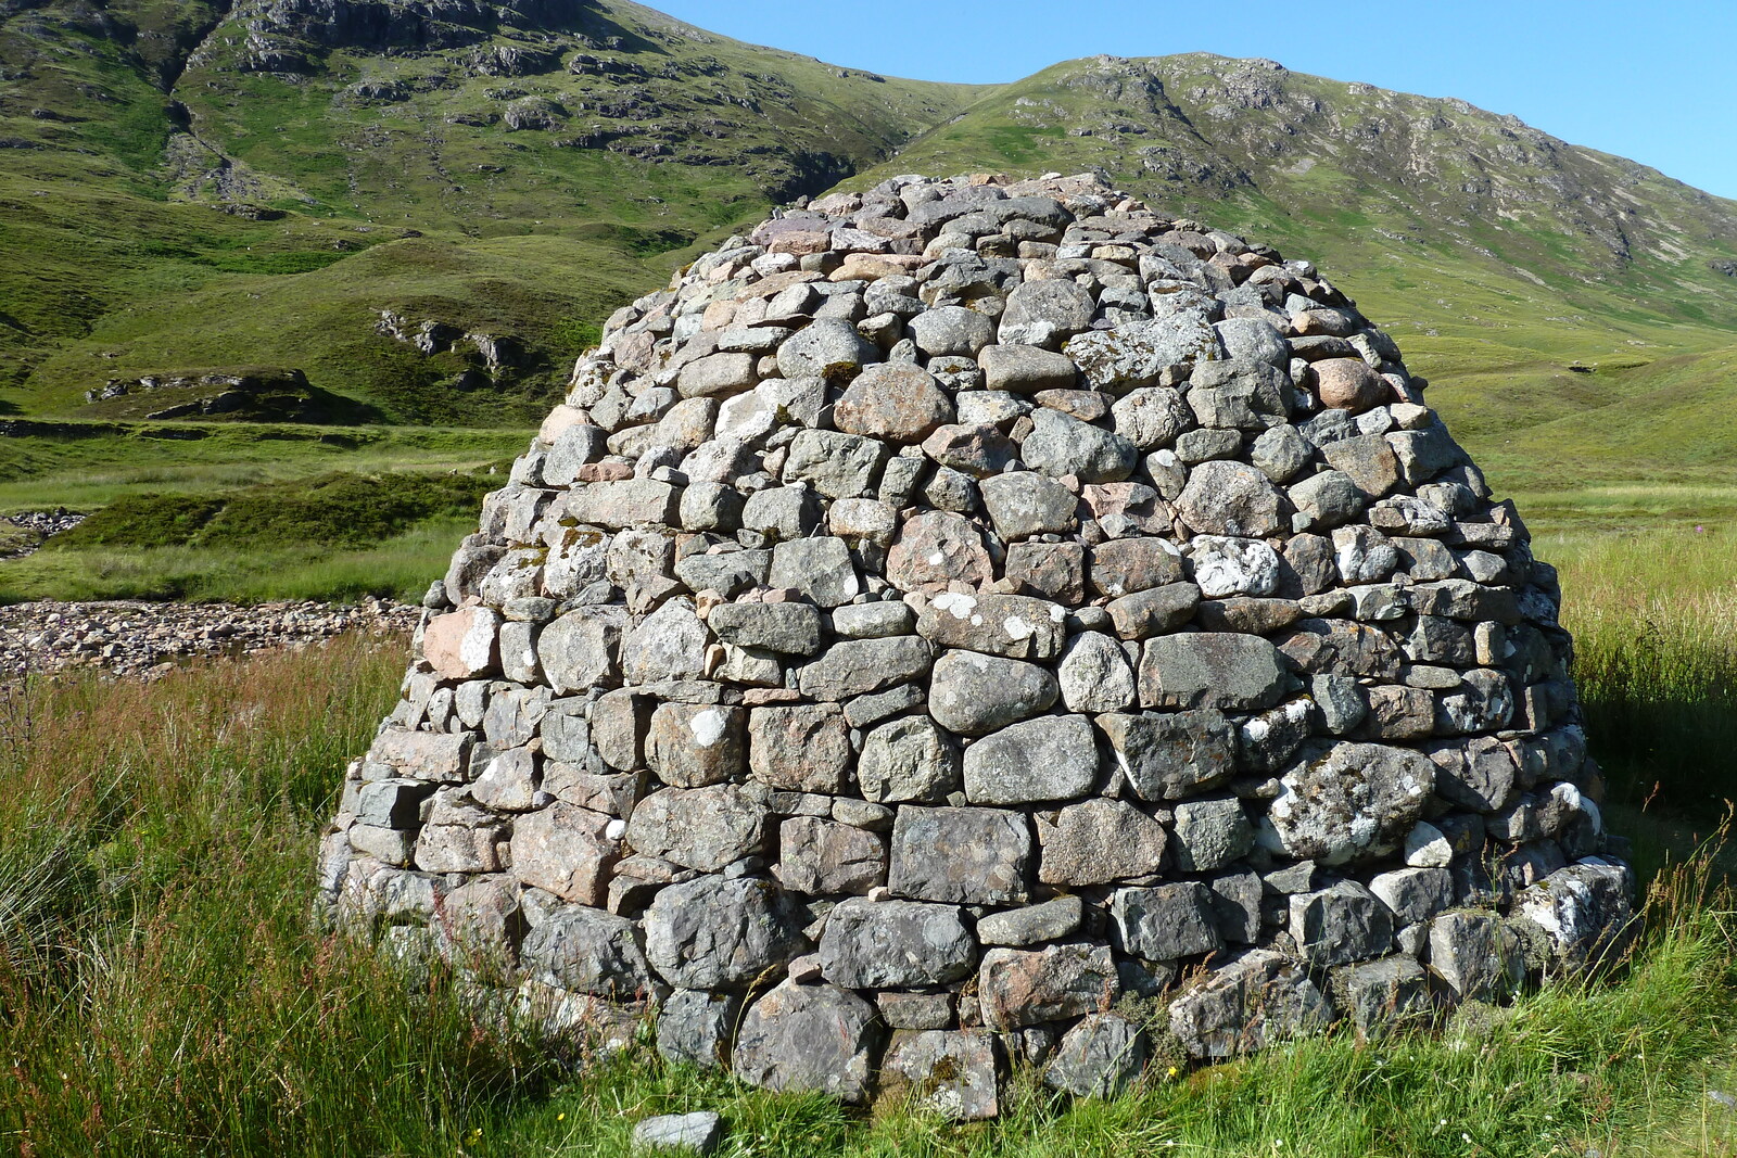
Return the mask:
M 1737 198 L 1737 0 L 651 0 L 736 40 L 995 83 L 1070 57 L 1218 52 L 1513 113 Z

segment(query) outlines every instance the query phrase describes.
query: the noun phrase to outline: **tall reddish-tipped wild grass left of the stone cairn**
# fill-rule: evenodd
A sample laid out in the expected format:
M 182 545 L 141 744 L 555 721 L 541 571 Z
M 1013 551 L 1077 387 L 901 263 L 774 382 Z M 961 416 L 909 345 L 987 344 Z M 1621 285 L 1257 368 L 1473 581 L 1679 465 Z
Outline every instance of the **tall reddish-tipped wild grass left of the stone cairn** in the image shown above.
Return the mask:
M 0 1137 L 21 1155 L 452 1153 L 532 1089 L 438 977 L 309 925 L 334 771 L 400 667 L 344 641 L 14 694 Z

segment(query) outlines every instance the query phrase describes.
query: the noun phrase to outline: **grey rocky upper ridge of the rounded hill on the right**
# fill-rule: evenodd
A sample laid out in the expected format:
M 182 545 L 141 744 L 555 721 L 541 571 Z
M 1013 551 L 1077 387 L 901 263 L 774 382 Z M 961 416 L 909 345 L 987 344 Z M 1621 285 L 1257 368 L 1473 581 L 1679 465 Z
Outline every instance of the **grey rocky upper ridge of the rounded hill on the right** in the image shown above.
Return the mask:
M 1265 59 L 1100 56 L 992 94 L 893 165 L 974 160 L 955 155 L 980 148 L 990 127 L 1067 141 L 1070 161 L 1094 160 L 1192 212 L 1337 210 L 1386 219 L 1397 245 L 1523 260 L 1536 283 L 1570 269 L 1629 292 L 1657 280 L 1721 299 L 1725 323 L 1737 300 L 1721 257 L 1737 240 L 1737 203 L 1459 99 Z

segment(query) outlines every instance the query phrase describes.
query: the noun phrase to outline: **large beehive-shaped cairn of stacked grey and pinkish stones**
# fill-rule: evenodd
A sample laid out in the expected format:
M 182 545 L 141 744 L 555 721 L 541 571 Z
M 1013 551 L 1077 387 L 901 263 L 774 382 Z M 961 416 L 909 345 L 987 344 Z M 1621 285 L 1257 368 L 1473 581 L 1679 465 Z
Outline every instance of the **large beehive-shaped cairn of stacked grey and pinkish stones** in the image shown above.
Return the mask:
M 627 306 L 434 583 L 339 920 L 997 1111 L 1608 953 L 1553 568 L 1310 262 L 895 177 Z

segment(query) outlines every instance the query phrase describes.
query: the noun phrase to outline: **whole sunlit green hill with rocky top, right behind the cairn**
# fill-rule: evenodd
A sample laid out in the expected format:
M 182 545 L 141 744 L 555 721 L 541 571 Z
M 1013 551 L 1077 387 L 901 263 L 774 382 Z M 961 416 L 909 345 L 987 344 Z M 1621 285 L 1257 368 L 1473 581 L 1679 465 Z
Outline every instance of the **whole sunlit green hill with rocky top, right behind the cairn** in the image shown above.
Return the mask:
M 1628 479 L 1650 510 L 1728 486 L 1737 201 L 1463 101 L 1209 54 L 1056 64 L 848 184 L 1087 167 L 1317 260 L 1508 486 Z

